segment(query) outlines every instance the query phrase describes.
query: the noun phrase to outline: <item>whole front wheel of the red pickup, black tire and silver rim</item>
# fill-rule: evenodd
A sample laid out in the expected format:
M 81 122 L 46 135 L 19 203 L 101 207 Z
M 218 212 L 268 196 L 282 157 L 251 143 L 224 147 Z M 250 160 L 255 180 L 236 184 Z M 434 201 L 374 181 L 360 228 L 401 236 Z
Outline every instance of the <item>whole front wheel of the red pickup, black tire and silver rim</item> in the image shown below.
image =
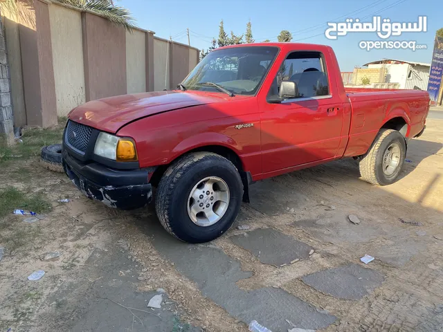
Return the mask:
M 202 243 L 233 225 L 242 195 L 242 180 L 233 163 L 218 154 L 195 152 L 172 163 L 163 174 L 155 208 L 174 237 Z

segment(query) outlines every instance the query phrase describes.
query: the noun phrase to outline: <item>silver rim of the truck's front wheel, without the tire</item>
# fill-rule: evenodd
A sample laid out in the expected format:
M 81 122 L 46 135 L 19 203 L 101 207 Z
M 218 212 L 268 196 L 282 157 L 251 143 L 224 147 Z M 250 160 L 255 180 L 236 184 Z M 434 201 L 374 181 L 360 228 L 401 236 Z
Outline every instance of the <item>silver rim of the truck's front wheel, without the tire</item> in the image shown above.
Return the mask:
M 188 216 L 196 225 L 214 225 L 228 210 L 229 198 L 229 187 L 223 179 L 203 178 L 188 196 Z

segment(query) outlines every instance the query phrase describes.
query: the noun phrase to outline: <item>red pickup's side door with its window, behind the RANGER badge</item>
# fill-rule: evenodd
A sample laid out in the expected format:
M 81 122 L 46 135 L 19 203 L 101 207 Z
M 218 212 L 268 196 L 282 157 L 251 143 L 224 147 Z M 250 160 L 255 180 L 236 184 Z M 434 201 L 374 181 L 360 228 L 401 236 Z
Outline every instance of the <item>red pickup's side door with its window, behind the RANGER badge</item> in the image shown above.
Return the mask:
M 341 141 L 343 102 L 329 91 L 323 54 L 290 53 L 268 96 L 282 80 L 296 82 L 299 95 L 261 111 L 263 173 L 334 158 Z

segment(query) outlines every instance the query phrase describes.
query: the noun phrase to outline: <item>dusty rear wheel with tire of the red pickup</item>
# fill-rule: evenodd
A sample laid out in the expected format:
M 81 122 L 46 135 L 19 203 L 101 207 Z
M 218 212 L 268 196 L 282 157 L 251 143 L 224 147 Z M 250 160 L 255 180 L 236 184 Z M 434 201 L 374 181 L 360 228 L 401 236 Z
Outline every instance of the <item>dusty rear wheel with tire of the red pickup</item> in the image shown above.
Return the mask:
M 390 185 L 397 180 L 405 158 L 403 135 L 393 129 L 381 129 L 360 160 L 361 177 L 374 185 Z

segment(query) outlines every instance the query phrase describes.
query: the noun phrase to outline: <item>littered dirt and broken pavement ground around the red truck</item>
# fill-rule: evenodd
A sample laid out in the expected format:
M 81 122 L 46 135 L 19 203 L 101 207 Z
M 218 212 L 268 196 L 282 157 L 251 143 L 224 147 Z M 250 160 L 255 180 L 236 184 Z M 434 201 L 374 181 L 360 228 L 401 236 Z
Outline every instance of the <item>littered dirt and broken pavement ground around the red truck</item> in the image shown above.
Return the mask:
M 394 185 L 361 181 L 354 160 L 256 183 L 234 227 L 199 246 L 152 205 L 109 209 L 31 158 L 0 187 L 43 190 L 53 209 L 0 221 L 0 331 L 443 331 L 442 147 L 443 120 L 428 120 Z

